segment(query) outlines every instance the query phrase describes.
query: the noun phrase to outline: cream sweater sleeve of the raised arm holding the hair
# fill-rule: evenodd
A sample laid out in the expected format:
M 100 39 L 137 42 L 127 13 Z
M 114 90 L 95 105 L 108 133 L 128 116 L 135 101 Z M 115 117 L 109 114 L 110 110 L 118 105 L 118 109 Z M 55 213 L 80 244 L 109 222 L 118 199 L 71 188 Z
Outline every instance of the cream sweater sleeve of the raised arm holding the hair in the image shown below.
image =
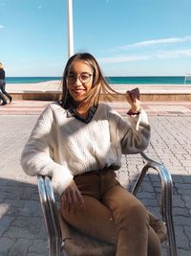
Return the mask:
M 123 154 L 138 153 L 144 151 L 150 141 L 151 129 L 146 112 L 141 109 L 136 117 L 127 116 L 123 119 L 115 110 L 116 128 L 113 128 L 120 142 L 121 152 Z M 114 134 L 113 134 L 114 137 Z

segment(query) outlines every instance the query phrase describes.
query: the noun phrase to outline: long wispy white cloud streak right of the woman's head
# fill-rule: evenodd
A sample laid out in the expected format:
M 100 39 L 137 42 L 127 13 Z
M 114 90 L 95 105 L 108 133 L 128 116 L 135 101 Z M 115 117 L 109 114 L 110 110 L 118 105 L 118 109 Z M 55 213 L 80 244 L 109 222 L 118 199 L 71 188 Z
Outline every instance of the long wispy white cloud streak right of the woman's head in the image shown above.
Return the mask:
M 190 41 L 190 35 L 139 41 L 133 44 L 117 46 L 111 49 L 113 54 L 116 53 L 116 57 L 99 58 L 99 61 L 102 63 L 119 63 L 152 59 L 188 58 L 191 57 L 191 47 L 186 47 L 186 43 Z

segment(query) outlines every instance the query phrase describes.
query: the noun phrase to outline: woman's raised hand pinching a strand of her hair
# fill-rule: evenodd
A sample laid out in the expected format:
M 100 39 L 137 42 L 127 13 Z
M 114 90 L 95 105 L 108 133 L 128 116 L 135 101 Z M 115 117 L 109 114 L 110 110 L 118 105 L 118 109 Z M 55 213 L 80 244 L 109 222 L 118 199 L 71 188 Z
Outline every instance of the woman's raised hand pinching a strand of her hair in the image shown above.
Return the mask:
M 138 88 L 135 88 L 131 91 L 126 91 L 127 102 L 131 105 L 131 112 L 138 112 L 141 109 L 140 106 L 140 95 Z

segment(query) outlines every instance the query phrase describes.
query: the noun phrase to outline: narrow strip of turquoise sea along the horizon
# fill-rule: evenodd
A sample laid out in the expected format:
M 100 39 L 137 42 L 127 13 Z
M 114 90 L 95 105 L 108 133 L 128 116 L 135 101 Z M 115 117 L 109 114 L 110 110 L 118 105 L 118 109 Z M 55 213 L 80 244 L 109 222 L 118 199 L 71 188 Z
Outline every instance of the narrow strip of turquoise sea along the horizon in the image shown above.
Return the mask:
M 191 77 L 106 77 L 111 84 L 191 84 Z M 7 77 L 7 83 L 36 83 L 43 81 L 60 81 L 60 77 Z

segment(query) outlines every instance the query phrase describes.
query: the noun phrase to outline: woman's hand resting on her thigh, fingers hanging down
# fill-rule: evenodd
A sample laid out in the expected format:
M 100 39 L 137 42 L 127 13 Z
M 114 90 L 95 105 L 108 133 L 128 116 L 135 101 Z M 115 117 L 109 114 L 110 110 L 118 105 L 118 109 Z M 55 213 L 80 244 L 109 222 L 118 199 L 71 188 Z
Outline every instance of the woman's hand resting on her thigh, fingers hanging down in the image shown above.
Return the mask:
M 65 191 L 61 195 L 61 203 L 64 205 L 68 212 L 72 214 L 75 213 L 77 204 L 84 210 L 85 204 L 84 200 L 79 192 L 77 186 L 74 183 L 74 180 L 71 181 L 69 186 L 65 189 Z

